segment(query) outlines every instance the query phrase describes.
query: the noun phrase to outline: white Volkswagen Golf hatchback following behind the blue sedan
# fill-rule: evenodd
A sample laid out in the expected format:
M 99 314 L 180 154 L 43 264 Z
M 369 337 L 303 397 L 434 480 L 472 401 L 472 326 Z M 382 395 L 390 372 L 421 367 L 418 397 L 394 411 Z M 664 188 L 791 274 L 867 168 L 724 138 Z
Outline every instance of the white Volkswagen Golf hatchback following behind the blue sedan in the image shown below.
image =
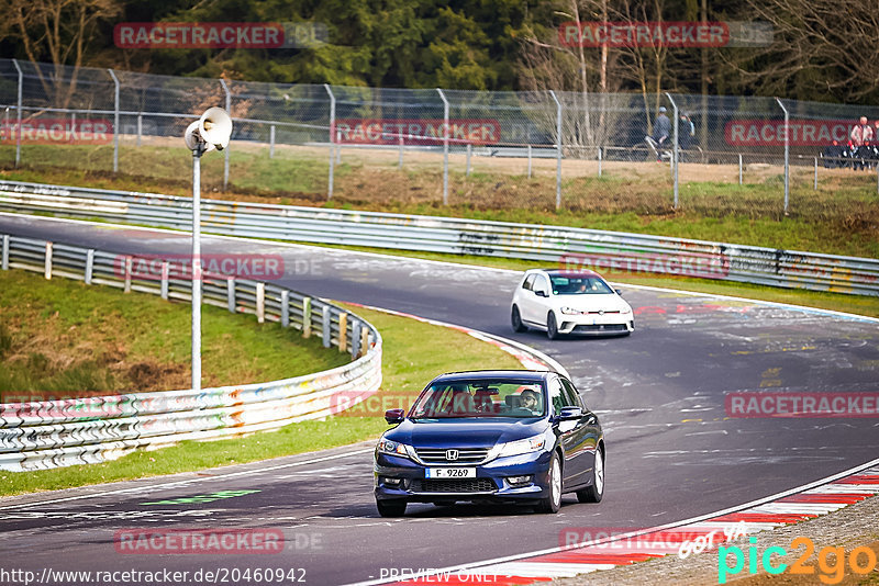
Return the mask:
M 526 271 L 510 316 L 513 330 L 539 329 L 549 339 L 560 334 L 627 336 L 635 330 L 632 307 L 622 293 L 588 270 Z

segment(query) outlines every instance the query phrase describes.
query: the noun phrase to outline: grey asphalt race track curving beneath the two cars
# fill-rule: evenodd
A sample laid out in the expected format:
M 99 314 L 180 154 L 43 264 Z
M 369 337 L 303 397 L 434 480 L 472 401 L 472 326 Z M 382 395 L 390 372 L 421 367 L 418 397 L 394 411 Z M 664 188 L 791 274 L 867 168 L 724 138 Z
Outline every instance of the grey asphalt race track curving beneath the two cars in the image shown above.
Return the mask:
M 125 253 L 181 255 L 190 247 L 188 235 L 10 215 L 0 215 L 0 233 Z M 731 418 L 724 405 L 727 393 L 743 391 L 876 392 L 875 320 L 622 285 L 636 313 L 631 337 L 550 342 L 543 334 L 512 334 L 509 304 L 518 274 L 510 271 L 213 237 L 202 238 L 202 251 L 279 253 L 287 267 L 281 283 L 293 289 L 466 325 L 548 353 L 601 417 L 604 500 L 580 505 L 567 495 L 557 516 L 410 505 L 405 518 L 381 519 L 371 497 L 371 453 L 360 444 L 77 489 L 62 495 L 67 500 L 51 502 L 57 494 L 2 499 L 0 568 L 37 576 L 47 567 L 187 571 L 186 581 L 176 581 L 187 584 L 209 582 L 191 579 L 199 570 L 302 568 L 294 577 L 308 584 L 348 584 L 391 568 L 553 548 L 566 531 L 668 523 L 879 455 L 876 418 Z M 214 496 L 176 500 L 200 495 Z M 282 531 L 286 544 L 259 555 L 146 555 L 114 546 L 116 531 L 143 528 L 272 529 Z

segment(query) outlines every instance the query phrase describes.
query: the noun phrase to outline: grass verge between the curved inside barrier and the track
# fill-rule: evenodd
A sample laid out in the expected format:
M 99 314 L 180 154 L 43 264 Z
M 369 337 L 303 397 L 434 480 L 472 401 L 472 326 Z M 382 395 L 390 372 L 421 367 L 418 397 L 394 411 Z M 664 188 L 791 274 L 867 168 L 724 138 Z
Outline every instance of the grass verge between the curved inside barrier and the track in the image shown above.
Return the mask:
M 505 352 L 466 334 L 359 307 L 351 309 L 381 331 L 385 340 L 381 393 L 385 396 L 414 396 L 431 379 L 452 370 L 522 368 Z M 275 432 L 244 438 L 181 442 L 100 464 L 27 473 L 0 472 L 0 495 L 173 474 L 322 450 L 376 438 L 387 427 L 381 417 L 335 416 L 325 421 L 293 424 Z

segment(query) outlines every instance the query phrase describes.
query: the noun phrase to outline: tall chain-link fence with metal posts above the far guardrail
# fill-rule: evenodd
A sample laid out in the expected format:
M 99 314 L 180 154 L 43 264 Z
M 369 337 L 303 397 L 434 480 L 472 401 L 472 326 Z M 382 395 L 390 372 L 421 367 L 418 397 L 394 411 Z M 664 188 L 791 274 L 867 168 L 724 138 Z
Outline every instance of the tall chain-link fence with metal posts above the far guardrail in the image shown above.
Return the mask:
M 182 134 L 211 105 L 234 131 L 224 157 L 205 157 L 205 184 L 290 202 L 878 213 L 879 109 L 755 97 L 285 84 L 0 59 L 0 165 L 188 181 Z M 860 116 L 869 137 L 853 140 Z

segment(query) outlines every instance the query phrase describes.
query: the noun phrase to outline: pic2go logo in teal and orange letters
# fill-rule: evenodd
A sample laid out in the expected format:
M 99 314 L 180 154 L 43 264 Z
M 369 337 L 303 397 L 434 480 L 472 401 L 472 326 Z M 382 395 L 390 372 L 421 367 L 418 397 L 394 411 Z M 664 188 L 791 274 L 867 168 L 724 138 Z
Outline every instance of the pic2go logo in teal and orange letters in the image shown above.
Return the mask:
M 757 561 L 759 559 L 763 570 L 769 574 L 781 574 L 788 571 L 790 574 L 815 574 L 815 567 L 805 562 L 812 557 L 815 544 L 810 538 L 800 537 L 790 542 L 791 549 L 804 548 L 802 554 L 790 566 L 779 559 L 788 555 L 785 548 L 766 548 L 763 554 L 757 552 L 757 538 L 749 539 L 752 545 L 747 549 L 748 573 L 757 573 Z M 730 556 L 734 560 L 734 565 L 730 566 Z M 774 556 L 777 562 L 774 564 Z M 831 562 L 833 557 L 833 562 Z M 817 553 L 817 567 L 821 571 L 819 579 L 823 584 L 839 584 L 845 575 L 846 552 L 842 546 L 823 548 Z M 790 570 L 788 570 L 790 567 Z M 848 567 L 855 574 L 866 575 L 876 567 L 876 552 L 870 548 L 860 546 L 852 550 L 848 554 Z M 738 574 L 745 568 L 745 552 L 736 545 L 717 548 L 717 584 L 726 584 L 727 576 Z

